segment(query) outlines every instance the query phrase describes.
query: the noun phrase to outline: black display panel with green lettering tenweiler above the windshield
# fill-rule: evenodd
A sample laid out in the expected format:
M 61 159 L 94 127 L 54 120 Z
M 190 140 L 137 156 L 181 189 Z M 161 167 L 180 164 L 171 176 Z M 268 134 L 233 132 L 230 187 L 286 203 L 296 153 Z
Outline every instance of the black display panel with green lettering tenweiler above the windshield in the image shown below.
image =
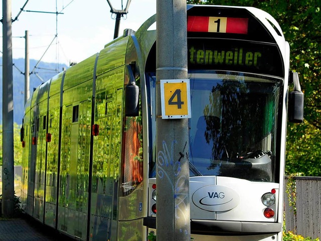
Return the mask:
M 189 69 L 228 70 L 283 76 L 274 44 L 231 39 L 189 39 Z

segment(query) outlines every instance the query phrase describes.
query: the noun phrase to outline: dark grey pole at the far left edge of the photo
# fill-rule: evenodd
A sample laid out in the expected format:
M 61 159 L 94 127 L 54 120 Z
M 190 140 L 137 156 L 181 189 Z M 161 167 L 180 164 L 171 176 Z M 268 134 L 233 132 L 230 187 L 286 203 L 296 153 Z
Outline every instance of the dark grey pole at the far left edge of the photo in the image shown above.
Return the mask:
M 14 213 L 14 101 L 12 64 L 11 0 L 3 0 L 3 165 L 2 213 Z

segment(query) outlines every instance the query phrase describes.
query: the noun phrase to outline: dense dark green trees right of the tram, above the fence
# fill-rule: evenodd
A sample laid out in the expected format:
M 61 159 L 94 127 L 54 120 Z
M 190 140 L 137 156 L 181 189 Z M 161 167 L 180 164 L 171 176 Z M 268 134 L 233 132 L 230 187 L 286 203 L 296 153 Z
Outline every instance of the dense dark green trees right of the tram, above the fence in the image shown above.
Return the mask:
M 218 4 L 188 0 L 188 4 Z M 321 176 L 321 0 L 222 0 L 219 5 L 262 9 L 275 18 L 290 44 L 290 69 L 304 92 L 304 121 L 287 126 L 286 174 Z

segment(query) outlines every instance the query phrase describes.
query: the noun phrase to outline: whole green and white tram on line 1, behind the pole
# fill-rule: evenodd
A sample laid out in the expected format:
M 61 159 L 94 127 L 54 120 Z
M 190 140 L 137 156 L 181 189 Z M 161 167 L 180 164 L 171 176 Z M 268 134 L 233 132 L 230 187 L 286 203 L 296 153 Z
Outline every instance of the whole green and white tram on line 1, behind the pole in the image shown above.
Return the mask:
M 280 241 L 287 112 L 303 118 L 289 45 L 258 9 L 187 8 L 191 236 Z M 26 104 L 23 209 L 75 239 L 147 240 L 155 230 L 155 20 Z

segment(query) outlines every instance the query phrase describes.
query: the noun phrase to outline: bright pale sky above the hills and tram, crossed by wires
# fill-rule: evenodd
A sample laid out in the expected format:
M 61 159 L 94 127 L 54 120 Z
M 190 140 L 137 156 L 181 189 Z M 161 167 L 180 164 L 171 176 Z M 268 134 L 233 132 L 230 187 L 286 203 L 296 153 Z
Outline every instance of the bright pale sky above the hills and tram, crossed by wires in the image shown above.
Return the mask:
M 107 0 L 11 0 L 12 19 L 26 2 L 25 11 L 12 23 L 14 59 L 25 58 L 26 30 L 30 59 L 66 65 L 81 62 L 113 40 L 115 15 L 110 13 Z M 127 4 L 126 0 L 110 2 L 116 10 L 125 9 Z M 127 28 L 136 31 L 155 13 L 156 0 L 131 0 L 128 14 L 120 20 L 119 36 Z M 2 51 L 3 41 L 0 46 Z

